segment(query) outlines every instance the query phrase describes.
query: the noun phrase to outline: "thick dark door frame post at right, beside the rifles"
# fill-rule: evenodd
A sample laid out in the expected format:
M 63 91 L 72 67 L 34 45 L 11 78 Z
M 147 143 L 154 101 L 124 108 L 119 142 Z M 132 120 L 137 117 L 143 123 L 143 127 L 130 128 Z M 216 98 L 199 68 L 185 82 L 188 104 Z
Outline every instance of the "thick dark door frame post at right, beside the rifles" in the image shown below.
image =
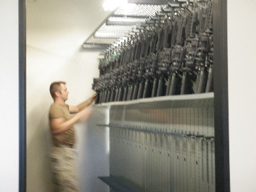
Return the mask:
M 227 0 L 214 0 L 214 134 L 216 191 L 230 191 L 228 143 Z

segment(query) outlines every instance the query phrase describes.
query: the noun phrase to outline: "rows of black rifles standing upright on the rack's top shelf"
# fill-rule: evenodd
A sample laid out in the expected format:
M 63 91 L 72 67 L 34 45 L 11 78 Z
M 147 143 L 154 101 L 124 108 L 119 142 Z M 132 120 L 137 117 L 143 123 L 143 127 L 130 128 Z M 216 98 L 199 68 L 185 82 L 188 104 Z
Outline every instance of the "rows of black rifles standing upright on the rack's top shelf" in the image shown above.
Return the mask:
M 167 4 L 106 52 L 95 103 L 213 91 L 212 0 Z

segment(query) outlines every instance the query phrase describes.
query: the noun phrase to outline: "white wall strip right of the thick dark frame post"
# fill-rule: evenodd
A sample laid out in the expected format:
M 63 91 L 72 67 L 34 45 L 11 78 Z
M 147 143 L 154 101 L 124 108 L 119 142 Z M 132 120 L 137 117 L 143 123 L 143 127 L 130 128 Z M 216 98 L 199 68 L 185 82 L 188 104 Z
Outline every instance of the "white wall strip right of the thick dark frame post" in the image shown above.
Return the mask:
M 228 0 L 231 191 L 256 189 L 256 2 Z

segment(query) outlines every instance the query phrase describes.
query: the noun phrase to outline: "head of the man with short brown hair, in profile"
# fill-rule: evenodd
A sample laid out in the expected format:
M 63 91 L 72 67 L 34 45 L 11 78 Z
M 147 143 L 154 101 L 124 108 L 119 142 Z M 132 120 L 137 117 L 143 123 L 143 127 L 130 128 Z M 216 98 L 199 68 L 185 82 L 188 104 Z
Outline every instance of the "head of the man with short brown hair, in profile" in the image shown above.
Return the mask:
M 54 100 L 58 97 L 60 97 L 63 100 L 68 99 L 68 90 L 66 87 L 66 83 L 64 81 L 56 81 L 51 83 L 50 93 L 51 93 L 52 99 Z

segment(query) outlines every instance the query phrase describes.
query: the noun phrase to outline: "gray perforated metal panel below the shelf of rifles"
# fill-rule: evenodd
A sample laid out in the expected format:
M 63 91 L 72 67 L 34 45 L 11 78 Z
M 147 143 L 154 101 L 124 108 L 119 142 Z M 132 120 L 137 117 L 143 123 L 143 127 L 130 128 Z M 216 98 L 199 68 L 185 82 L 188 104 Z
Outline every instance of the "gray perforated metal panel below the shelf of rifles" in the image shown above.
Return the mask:
M 111 175 L 139 191 L 214 191 L 213 108 L 202 106 L 111 106 Z

